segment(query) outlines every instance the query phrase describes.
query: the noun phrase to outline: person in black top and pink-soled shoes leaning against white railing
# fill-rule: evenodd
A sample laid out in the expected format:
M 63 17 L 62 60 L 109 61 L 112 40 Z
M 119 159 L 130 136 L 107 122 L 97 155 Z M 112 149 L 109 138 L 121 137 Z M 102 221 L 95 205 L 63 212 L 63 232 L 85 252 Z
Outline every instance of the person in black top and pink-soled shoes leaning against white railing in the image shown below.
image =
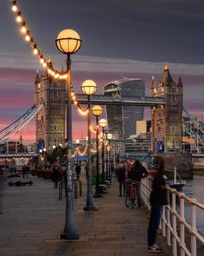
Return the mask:
M 148 251 L 162 252 L 162 247 L 156 244 L 156 233 L 163 213 L 163 205 L 168 204 L 167 187 L 163 174 L 163 161 L 160 159 L 159 167 L 152 181 L 150 194 L 150 222 L 148 226 Z

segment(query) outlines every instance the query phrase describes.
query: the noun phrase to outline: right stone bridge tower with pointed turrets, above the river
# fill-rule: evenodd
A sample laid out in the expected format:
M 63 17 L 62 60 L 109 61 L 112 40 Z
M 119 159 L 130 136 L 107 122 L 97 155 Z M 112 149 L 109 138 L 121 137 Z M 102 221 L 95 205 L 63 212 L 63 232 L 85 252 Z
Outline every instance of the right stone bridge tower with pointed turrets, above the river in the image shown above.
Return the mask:
M 151 108 L 152 151 L 182 151 L 182 78 L 174 82 L 166 63 L 156 85 L 152 76 L 151 96 L 164 97 L 166 104 Z

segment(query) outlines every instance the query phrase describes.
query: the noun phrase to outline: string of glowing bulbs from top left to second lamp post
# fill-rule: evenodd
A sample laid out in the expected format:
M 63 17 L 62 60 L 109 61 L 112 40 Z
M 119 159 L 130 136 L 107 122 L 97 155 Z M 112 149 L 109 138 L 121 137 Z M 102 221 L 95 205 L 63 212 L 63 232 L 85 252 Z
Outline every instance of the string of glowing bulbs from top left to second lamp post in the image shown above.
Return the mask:
M 24 39 L 26 42 L 29 43 L 30 49 L 32 49 L 33 54 L 36 56 L 36 58 L 41 63 L 42 67 L 48 71 L 48 74 L 53 76 L 55 79 L 59 79 L 61 81 L 67 79 L 67 72 L 59 72 L 56 69 L 53 68 L 53 64 L 50 61 L 50 59 L 46 59 L 46 57 L 41 53 L 41 49 L 39 48 L 38 44 L 35 42 L 34 37 L 32 36 L 29 26 L 25 22 L 25 19 L 22 16 L 22 11 L 19 8 L 19 5 L 17 4 L 16 0 L 12 0 L 12 7 L 14 13 L 16 13 L 16 23 L 20 25 L 20 31 L 22 36 L 24 36 Z M 88 108 L 82 108 L 77 101 L 76 94 L 73 90 L 73 86 L 71 85 L 71 96 L 73 100 L 73 104 L 78 107 L 78 110 L 81 115 L 87 115 Z

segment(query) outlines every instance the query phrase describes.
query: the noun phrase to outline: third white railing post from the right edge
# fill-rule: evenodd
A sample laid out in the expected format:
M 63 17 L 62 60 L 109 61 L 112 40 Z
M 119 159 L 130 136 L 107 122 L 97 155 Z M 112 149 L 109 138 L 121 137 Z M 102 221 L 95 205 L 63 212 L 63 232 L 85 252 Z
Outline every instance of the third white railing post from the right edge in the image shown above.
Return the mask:
M 172 237 L 172 246 L 173 246 L 173 256 L 177 256 L 177 244 L 176 238 L 177 230 L 176 230 L 176 210 L 175 210 L 175 189 L 172 189 L 172 208 L 171 208 L 171 215 L 172 215 L 172 227 L 173 227 L 173 237 Z

